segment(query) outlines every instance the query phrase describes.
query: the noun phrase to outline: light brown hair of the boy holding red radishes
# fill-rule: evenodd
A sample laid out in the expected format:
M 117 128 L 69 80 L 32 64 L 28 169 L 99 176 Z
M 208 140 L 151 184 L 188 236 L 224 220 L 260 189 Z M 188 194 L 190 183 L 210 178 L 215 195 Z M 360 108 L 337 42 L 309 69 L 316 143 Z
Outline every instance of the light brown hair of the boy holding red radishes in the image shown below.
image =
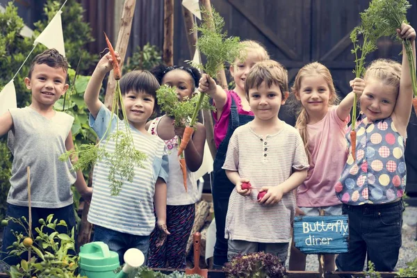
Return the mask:
M 249 99 L 250 89 L 259 88 L 263 82 L 268 88 L 272 84 L 279 86 L 282 99 L 285 99 L 286 92 L 288 92 L 288 72 L 283 65 L 275 60 L 264 60 L 256 63 L 246 77 L 246 98 Z

